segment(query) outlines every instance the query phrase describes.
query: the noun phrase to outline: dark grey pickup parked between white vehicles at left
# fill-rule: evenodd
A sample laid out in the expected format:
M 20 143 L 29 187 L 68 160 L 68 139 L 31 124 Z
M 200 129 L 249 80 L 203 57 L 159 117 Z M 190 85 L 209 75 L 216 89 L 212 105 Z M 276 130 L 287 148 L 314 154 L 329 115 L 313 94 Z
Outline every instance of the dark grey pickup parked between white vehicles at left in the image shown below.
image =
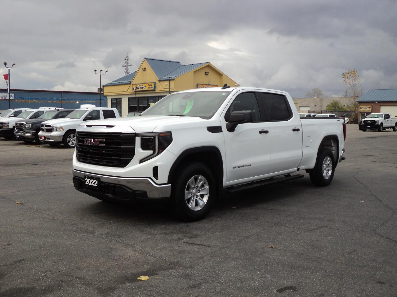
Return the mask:
M 74 109 L 55 109 L 44 112 L 37 119 L 19 121 L 15 123 L 15 138 L 24 142 L 42 143 L 39 139 L 40 124 L 46 120 L 65 118 Z

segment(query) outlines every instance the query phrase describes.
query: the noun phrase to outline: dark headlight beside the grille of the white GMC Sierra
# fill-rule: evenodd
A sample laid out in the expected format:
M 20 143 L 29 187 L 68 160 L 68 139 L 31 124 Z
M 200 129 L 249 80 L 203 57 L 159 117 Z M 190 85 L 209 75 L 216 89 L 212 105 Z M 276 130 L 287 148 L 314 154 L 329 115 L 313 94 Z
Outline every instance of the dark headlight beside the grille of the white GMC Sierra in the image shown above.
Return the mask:
M 142 150 L 151 150 L 153 152 L 150 156 L 140 160 L 139 163 L 150 160 L 158 154 L 161 154 L 172 143 L 172 133 L 170 131 L 137 134 L 137 137 L 141 138 Z

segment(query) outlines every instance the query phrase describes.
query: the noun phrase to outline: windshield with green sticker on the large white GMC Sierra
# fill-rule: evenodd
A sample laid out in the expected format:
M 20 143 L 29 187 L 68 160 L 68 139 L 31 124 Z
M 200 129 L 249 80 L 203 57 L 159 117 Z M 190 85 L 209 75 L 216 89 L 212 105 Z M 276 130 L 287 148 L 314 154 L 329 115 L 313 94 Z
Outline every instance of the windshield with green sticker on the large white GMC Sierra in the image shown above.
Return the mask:
M 142 112 L 143 116 L 212 118 L 230 91 L 191 91 L 170 94 Z

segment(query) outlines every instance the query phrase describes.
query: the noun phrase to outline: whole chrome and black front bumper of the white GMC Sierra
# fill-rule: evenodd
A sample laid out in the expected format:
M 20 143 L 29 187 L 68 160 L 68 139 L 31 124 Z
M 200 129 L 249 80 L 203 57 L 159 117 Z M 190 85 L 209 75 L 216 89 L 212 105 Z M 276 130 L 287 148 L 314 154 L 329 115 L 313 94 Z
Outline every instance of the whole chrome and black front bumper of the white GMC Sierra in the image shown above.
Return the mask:
M 98 179 L 98 189 L 85 185 L 85 175 Z M 171 185 L 157 185 L 149 178 L 114 177 L 94 174 L 73 169 L 73 185 L 76 190 L 90 196 L 115 201 L 168 201 L 171 196 Z

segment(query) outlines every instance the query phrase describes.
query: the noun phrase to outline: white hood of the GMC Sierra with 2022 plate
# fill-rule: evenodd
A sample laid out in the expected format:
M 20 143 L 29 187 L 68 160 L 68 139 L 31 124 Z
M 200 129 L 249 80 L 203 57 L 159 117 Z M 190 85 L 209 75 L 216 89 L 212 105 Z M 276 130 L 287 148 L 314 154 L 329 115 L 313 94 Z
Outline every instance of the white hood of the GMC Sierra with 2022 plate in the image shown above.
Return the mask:
M 87 122 L 88 125 L 129 126 L 136 133 L 161 132 L 172 128 L 208 126 L 208 120 L 195 116 L 135 116 L 131 118 L 109 118 Z M 81 126 L 85 125 L 82 124 Z

